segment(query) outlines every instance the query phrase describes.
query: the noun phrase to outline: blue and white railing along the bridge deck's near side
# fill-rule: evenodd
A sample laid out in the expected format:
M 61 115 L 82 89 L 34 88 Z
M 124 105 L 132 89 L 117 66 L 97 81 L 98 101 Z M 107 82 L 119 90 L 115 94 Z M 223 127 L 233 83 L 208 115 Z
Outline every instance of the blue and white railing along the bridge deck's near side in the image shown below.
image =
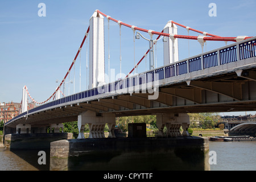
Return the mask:
M 147 72 L 139 73 L 131 77 L 127 77 L 123 80 L 118 80 L 105 84 L 100 88 L 93 88 L 85 90 L 80 93 L 73 94 L 71 96 L 66 96 L 60 98 L 59 100 L 48 102 L 47 104 L 40 105 L 34 109 L 28 110 L 6 123 L 6 125 L 15 119 L 26 116 L 26 114 L 31 114 L 39 110 L 44 110 L 49 107 L 56 105 L 68 104 L 68 102 L 74 102 L 78 100 L 90 100 L 94 96 L 98 96 L 104 93 L 114 93 L 117 90 L 122 90 L 126 88 L 131 88 L 133 86 L 139 86 L 147 84 L 155 80 L 163 80 L 164 78 L 175 77 L 179 75 L 184 75 L 186 73 L 192 73 L 200 71 L 203 69 L 208 69 L 216 67 L 218 65 L 232 63 L 234 61 L 240 61 L 243 59 L 248 59 L 250 57 L 255 57 L 256 55 L 256 37 L 243 40 L 242 42 L 230 44 L 229 46 L 214 49 L 213 51 L 208 51 L 189 57 L 188 59 L 180 60 L 172 64 L 164 65 Z M 239 48 L 239 49 L 237 49 Z

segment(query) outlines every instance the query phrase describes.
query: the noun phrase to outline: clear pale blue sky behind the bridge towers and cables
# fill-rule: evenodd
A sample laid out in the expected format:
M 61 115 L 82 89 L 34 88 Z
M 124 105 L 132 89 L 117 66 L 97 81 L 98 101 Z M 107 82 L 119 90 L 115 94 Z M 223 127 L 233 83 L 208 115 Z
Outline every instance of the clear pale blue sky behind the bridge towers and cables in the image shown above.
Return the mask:
M 39 3 L 46 5 L 46 16 L 39 16 Z M 209 16 L 210 3 L 216 4 L 216 15 Z M 162 31 L 169 20 L 219 36 L 256 35 L 256 1 L 0 1 L 0 102 L 20 102 L 22 88 L 27 86 L 36 101 L 47 100 L 55 91 L 71 65 L 96 9 L 112 18 L 148 30 Z M 105 24 L 105 72 L 108 74 L 108 42 L 110 69 L 119 73 L 121 47 L 122 73 L 127 75 L 134 66 L 133 31 L 121 27 L 121 45 L 117 23 Z M 149 38 L 147 33 L 143 36 Z M 179 35 L 188 35 L 178 27 Z M 189 35 L 199 33 L 189 31 Z M 156 39 L 156 36 L 153 36 Z M 179 39 L 179 59 L 201 53 L 197 40 Z M 228 42 L 230 44 L 231 42 Z M 225 46 L 224 42 L 207 42 L 206 51 Z M 188 49 L 189 47 L 189 49 Z M 89 48 L 89 41 L 88 41 Z M 163 43 L 156 44 L 157 67 L 163 65 Z M 148 49 L 148 42 L 135 40 L 135 61 Z M 205 48 L 204 48 L 205 51 Z M 88 55 L 89 58 L 89 55 Z M 77 58 L 75 72 L 70 73 L 69 91 L 79 92 L 81 61 L 81 91 L 86 89 L 86 42 Z M 148 69 L 145 60 L 138 72 Z M 75 75 L 75 79 L 74 79 Z M 68 81 L 68 79 L 66 80 Z M 112 80 L 113 81 L 113 80 Z M 108 81 L 106 81 L 108 82 Z M 62 90 L 62 89 L 61 89 Z M 68 84 L 66 84 L 68 94 Z M 247 112 L 248 114 L 249 112 Z M 250 112 L 255 114 L 256 112 Z M 233 115 L 234 113 L 230 113 Z M 236 115 L 237 113 L 235 113 Z M 245 114 L 245 112 L 239 113 Z

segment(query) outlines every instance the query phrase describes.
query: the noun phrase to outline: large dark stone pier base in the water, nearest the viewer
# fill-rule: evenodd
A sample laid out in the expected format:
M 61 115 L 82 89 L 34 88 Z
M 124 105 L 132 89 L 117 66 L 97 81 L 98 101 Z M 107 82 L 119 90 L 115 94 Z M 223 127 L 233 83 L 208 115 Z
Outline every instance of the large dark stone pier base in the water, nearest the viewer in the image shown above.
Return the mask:
M 51 143 L 50 170 L 209 170 L 208 138 L 69 139 Z

